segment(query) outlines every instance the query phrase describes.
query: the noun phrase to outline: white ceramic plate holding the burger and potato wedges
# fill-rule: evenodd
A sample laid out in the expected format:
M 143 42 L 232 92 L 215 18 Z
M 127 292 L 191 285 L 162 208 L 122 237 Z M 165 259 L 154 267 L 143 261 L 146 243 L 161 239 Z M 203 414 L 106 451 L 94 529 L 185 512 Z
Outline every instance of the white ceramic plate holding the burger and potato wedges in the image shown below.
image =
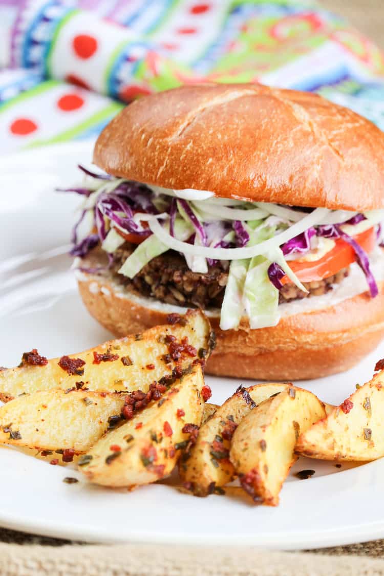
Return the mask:
M 48 357 L 110 338 L 86 312 L 66 255 L 75 194 L 55 187 L 79 179 L 92 143 L 45 147 L 0 160 L 0 366 L 38 348 Z M 356 382 L 372 375 L 384 346 L 339 376 L 301 382 L 322 400 L 340 403 Z M 212 401 L 222 402 L 239 381 L 207 377 Z M 248 382 L 251 384 L 251 382 Z M 311 468 L 310 480 L 294 472 Z M 384 537 L 384 461 L 341 469 L 300 458 L 284 484 L 277 508 L 212 495 L 193 498 L 154 484 L 128 493 L 65 484 L 68 469 L 24 453 L 0 449 L 0 524 L 49 536 L 89 541 L 246 544 L 313 548 Z

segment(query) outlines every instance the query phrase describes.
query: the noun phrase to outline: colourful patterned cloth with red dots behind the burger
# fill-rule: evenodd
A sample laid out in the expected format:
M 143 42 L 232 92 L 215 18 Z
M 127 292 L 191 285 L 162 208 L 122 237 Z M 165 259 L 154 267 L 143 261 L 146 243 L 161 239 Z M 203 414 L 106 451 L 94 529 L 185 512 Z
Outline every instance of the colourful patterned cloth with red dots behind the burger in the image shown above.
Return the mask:
M 3 152 L 203 79 L 315 91 L 384 129 L 382 52 L 312 0 L 0 0 L 0 21 Z

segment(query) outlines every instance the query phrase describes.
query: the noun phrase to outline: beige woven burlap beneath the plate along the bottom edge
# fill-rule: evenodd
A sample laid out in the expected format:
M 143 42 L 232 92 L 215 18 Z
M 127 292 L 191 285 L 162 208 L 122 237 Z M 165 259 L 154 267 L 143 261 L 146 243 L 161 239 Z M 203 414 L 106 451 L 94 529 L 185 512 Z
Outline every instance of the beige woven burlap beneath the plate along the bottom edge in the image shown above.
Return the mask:
M 2 576 L 384 576 L 383 557 L 384 540 L 271 552 L 172 543 L 82 544 L 0 529 Z

